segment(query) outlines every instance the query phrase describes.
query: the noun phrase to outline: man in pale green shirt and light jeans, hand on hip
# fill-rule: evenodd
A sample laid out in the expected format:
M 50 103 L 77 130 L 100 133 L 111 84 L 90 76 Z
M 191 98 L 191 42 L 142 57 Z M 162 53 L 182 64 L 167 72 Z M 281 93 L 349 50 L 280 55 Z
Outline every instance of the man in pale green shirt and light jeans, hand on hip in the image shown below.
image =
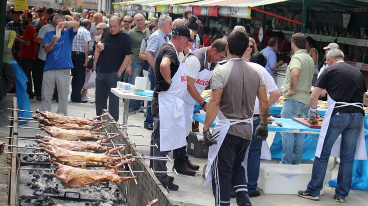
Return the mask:
M 309 111 L 309 92 L 312 85 L 314 61 L 305 49 L 306 37 L 295 33 L 291 37 L 293 55 L 287 67 L 283 88 L 285 97 L 281 118 L 303 117 Z M 281 133 L 282 164 L 300 164 L 305 134 Z

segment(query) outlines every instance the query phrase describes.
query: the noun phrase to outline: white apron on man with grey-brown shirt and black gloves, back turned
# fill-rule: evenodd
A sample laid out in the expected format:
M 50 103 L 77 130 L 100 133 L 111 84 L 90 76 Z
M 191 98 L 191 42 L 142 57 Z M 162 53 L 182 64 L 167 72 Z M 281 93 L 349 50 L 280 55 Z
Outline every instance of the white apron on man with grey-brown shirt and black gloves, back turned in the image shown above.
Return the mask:
M 227 119 L 222 114 L 221 110 L 218 111 L 217 117 L 218 117 L 218 121 L 217 121 L 217 124 L 216 124 L 215 128 L 213 129 L 213 134 L 215 134 L 217 131 L 220 131 L 220 133 L 219 133 L 219 136 L 216 138 L 217 144 L 216 145 L 211 145 L 208 149 L 208 162 L 207 162 L 207 169 L 206 169 L 206 180 L 204 182 L 205 187 L 208 186 L 212 182 L 212 173 L 211 173 L 212 163 L 215 160 L 215 158 L 217 156 L 217 153 L 221 148 L 221 145 L 222 145 L 222 143 L 225 139 L 227 131 L 229 131 L 230 125 L 245 122 L 245 123 L 251 124 L 251 128 L 253 130 L 253 117 L 248 118 L 248 119 L 244 119 L 244 120 Z M 245 154 L 244 159 L 247 159 L 248 152 L 249 152 L 249 146 L 247 148 L 247 152 Z M 246 165 L 245 166 L 243 165 L 243 167 L 244 167 L 245 173 L 246 173 L 246 170 L 247 170 Z

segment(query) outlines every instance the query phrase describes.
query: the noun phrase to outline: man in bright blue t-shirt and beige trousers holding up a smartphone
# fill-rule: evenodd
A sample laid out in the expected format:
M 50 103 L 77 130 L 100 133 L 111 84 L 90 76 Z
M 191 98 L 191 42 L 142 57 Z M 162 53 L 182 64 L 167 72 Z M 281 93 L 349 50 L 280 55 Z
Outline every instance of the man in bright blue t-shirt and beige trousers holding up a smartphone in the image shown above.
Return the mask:
M 59 37 L 57 31 L 47 32 L 42 45 L 47 54 L 42 80 L 42 110 L 51 111 L 51 100 L 56 85 L 59 97 L 57 113 L 68 115 L 70 70 L 73 69 L 72 44 L 79 22 L 65 21 L 64 15 L 56 14 L 53 24 L 57 25 L 56 30 L 60 29 L 61 33 Z

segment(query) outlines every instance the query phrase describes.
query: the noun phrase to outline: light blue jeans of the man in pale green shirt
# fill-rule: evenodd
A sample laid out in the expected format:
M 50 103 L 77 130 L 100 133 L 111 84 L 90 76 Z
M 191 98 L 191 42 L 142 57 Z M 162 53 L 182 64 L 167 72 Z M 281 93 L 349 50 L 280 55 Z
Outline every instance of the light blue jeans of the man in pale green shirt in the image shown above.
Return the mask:
M 291 119 L 308 114 L 309 104 L 303 104 L 295 99 L 285 99 L 281 110 L 281 118 Z M 305 134 L 281 133 L 282 164 L 300 164 L 303 157 Z

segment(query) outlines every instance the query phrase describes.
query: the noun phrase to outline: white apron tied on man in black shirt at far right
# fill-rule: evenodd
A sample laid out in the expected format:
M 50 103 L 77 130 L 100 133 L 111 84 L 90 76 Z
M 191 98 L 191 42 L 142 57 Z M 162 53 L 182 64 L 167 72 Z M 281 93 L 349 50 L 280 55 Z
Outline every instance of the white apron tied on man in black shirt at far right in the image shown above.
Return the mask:
M 357 107 L 363 109 L 363 105 L 361 103 L 335 102 L 328 94 L 327 94 L 327 103 L 328 103 L 328 109 L 327 109 L 326 114 L 324 115 L 324 118 L 323 118 L 321 132 L 319 134 L 317 148 L 316 148 L 316 151 L 315 151 L 315 156 L 318 157 L 318 158 L 320 158 L 320 155 L 321 155 L 321 152 L 322 152 L 324 138 L 325 138 L 326 133 L 327 133 L 329 121 L 331 119 L 333 108 L 335 108 L 335 104 L 336 103 L 341 104 L 340 106 L 337 106 L 337 107 L 357 106 Z M 341 144 L 341 135 L 338 136 L 336 142 L 332 146 L 331 155 L 330 155 L 331 157 L 339 157 L 340 156 L 340 144 Z M 363 125 L 361 126 L 360 135 L 357 139 L 354 159 L 355 160 L 366 160 L 367 159 L 366 158 L 366 149 L 365 149 L 364 127 L 363 127 Z

